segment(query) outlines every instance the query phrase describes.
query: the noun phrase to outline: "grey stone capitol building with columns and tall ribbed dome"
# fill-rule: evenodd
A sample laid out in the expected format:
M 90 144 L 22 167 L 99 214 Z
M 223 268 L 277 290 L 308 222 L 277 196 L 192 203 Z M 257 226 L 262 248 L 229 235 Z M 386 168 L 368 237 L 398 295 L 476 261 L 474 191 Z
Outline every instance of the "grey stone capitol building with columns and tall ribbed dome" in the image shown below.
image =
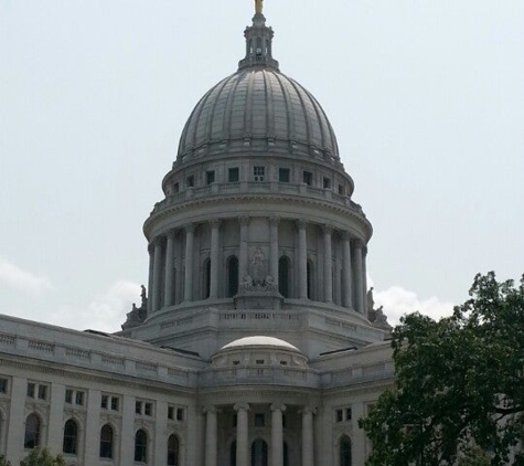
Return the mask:
M 238 70 L 182 130 L 143 230 L 149 283 L 115 335 L 0 317 L 0 454 L 67 466 L 363 466 L 392 384 L 372 225 L 261 2 Z

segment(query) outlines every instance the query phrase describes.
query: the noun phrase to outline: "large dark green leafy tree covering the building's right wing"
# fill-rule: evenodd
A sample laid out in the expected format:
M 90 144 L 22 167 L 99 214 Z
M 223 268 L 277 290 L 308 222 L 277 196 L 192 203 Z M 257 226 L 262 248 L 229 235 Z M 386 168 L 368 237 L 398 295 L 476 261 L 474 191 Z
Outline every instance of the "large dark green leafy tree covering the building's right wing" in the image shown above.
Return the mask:
M 472 445 L 490 466 L 524 466 L 524 276 L 478 275 L 451 317 L 404 317 L 392 348 L 394 385 L 360 420 L 367 466 L 452 464 Z

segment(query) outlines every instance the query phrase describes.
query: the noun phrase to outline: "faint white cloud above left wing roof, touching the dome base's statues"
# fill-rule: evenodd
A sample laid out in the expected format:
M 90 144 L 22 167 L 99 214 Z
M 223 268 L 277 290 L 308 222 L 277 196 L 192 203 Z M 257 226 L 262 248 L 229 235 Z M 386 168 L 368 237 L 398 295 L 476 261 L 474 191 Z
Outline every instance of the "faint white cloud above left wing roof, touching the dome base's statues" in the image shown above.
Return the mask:
M 140 285 L 119 280 L 87 306 L 78 308 L 62 306 L 52 313 L 46 321 L 77 330 L 114 332 L 120 330 L 120 325 L 126 320 L 126 314 L 131 310 L 132 303 L 140 306 Z

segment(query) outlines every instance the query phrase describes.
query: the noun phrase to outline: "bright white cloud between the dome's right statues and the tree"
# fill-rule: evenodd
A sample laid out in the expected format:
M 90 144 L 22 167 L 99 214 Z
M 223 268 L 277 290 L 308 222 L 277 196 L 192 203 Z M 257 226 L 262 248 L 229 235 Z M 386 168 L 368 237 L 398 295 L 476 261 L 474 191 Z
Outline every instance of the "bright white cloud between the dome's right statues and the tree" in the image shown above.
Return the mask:
M 441 301 L 435 296 L 428 299 L 420 299 L 416 293 L 400 286 L 392 286 L 384 292 L 374 290 L 373 295 L 375 308 L 384 306 L 384 314 L 393 326 L 397 325 L 400 317 L 405 314 L 415 311 L 419 311 L 434 319 L 450 316 L 455 306 L 452 303 Z

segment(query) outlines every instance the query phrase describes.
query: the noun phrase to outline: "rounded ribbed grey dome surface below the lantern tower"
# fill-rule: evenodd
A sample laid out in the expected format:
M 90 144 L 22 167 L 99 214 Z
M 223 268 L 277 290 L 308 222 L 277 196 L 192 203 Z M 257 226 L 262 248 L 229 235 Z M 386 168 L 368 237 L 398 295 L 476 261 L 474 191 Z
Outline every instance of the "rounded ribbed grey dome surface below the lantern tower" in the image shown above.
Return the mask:
M 240 68 L 208 91 L 185 124 L 179 158 L 248 150 L 339 160 L 322 107 L 272 67 Z

